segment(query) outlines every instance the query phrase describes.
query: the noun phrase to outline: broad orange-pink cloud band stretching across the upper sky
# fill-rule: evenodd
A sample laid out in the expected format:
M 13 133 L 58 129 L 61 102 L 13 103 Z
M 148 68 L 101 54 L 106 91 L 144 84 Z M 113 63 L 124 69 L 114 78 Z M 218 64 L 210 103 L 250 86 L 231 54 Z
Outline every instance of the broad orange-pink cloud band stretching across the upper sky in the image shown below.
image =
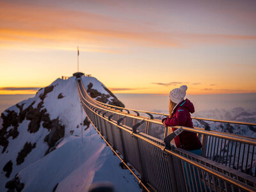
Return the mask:
M 110 15 L 86 12 L 86 9 L 82 12 L 58 6 L 1 3 L 0 47 L 17 47 L 17 42 L 35 47 L 70 47 L 70 44 L 79 42 L 79 45 L 98 46 L 93 52 L 116 52 L 113 47 L 133 44 L 147 47 L 184 47 L 202 42 L 223 44 L 233 40 L 256 40 L 256 35 L 162 30 L 159 26 L 140 19 L 137 21 Z

